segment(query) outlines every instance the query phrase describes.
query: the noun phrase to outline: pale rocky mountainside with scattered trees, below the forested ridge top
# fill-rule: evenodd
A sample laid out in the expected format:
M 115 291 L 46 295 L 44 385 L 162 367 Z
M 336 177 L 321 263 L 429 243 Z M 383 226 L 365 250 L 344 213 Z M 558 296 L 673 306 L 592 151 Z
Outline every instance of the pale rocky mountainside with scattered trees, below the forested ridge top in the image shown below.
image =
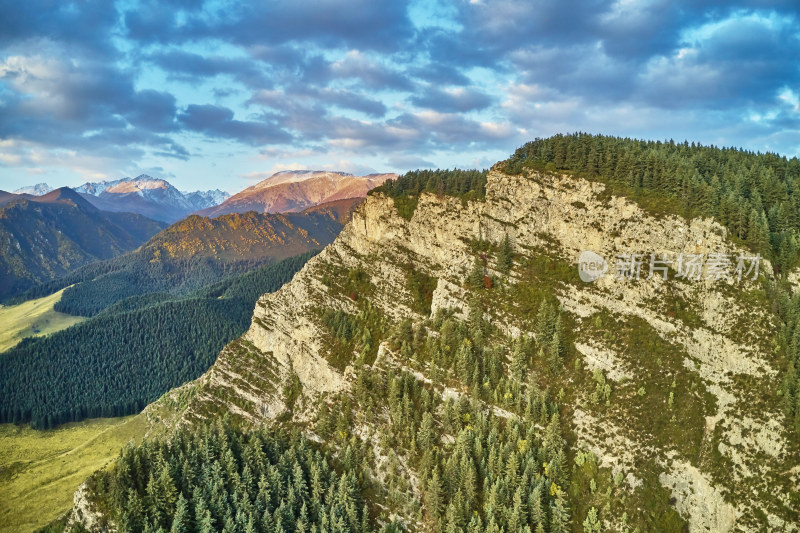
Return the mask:
M 764 289 L 769 265 L 758 282 L 615 279 L 612 265 L 584 283 L 574 264 L 584 250 L 751 256 L 725 228 L 654 216 L 601 183 L 501 166 L 485 198 L 422 194 L 409 218 L 392 198 L 368 196 L 332 245 L 259 300 L 248 332 L 202 378 L 151 412 L 191 398 L 177 409 L 181 423 L 225 412 L 253 424 L 293 420 L 323 442 L 330 435 L 331 453 L 348 442 L 374 449 L 375 482 L 424 503 L 398 507 L 404 496 L 376 489 L 377 501 L 424 530 L 443 527 L 444 509 L 450 521 L 449 505 L 460 520 L 466 489 L 449 480 L 462 479 L 459 450 L 472 449 L 483 417 L 542 428 L 517 433 L 487 468 L 512 461 L 512 476 L 540 480 L 554 498 L 539 493 L 543 520 L 561 516 L 566 498 L 576 528 L 599 512 L 617 529 L 796 529 L 800 455 L 777 394 L 785 359 Z M 544 431 L 556 398 L 556 429 Z M 431 430 L 418 409 L 441 431 L 434 456 L 429 440 L 419 447 Z M 554 459 L 547 442 L 559 418 L 568 448 Z M 529 445 L 543 470 L 518 462 Z M 383 461 L 402 466 L 388 474 Z M 513 491 L 477 480 L 514 508 Z M 445 503 L 431 507 L 440 489 Z M 493 508 L 476 509 L 487 519 Z M 510 527 L 510 515 L 502 520 Z

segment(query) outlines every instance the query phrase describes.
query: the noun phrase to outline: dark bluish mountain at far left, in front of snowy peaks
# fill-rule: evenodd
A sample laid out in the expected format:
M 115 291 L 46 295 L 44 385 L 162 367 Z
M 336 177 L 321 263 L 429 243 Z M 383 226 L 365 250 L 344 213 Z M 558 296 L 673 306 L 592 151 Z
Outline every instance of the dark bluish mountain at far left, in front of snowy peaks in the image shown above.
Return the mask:
M 0 298 L 133 250 L 164 226 L 101 211 L 69 187 L 41 196 L 0 191 Z

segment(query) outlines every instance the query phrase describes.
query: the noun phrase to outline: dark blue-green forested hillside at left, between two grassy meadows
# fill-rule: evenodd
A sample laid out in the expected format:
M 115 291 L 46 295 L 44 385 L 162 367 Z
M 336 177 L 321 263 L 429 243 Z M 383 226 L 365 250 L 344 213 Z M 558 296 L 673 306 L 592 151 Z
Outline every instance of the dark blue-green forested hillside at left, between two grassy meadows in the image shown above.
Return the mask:
M 259 296 L 289 281 L 307 253 L 195 292 L 129 297 L 0 357 L 0 422 L 49 428 L 139 412 L 214 362 L 250 324 Z

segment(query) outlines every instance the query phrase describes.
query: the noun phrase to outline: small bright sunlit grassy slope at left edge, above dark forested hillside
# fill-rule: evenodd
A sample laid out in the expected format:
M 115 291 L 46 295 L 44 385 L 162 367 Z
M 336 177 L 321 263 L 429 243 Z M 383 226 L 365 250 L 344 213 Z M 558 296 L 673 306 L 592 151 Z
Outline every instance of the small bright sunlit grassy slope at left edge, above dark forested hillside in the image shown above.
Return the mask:
M 63 293 L 64 289 L 21 304 L 0 306 L 0 324 L 3 324 L 0 329 L 0 352 L 16 346 L 25 337 L 55 333 L 85 320 L 53 310 Z

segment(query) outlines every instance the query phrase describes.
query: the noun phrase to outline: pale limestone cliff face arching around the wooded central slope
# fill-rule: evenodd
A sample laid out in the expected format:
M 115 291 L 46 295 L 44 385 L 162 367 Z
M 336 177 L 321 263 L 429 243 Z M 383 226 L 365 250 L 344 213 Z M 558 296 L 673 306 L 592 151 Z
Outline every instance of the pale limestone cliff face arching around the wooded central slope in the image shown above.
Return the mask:
M 515 266 L 504 275 L 496 251 L 506 236 Z M 577 276 L 586 250 L 609 262 L 594 283 Z M 621 508 L 625 498 L 666 491 L 690 531 L 797 530 L 800 456 L 784 429 L 775 319 L 760 283 L 680 280 L 674 270 L 667 281 L 644 279 L 647 265 L 642 279 L 616 279 L 615 258 L 628 253 L 752 255 L 709 219 L 653 216 L 602 184 L 565 175 L 509 176 L 497 167 L 484 200 L 423 194 L 410 220 L 391 198 L 368 196 L 332 245 L 259 300 L 248 332 L 150 416 L 191 423 L 230 412 L 253 423 L 292 420 L 313 434 L 320 402 L 352 391 L 365 363 L 412 368 L 457 397 L 458 387 L 392 352 L 386 338 L 343 351 L 324 316 L 411 318 L 415 329 L 440 309 L 466 317 L 473 296 L 464 280 L 478 257 L 497 283 L 481 295 L 484 316 L 509 338 L 535 337 L 527 302 L 511 292 L 531 273 L 563 307 L 574 350 L 559 377 L 542 379 L 561 400 L 570 458 L 593 452 L 620 487 Z M 419 279 L 435 287 L 431 294 L 420 297 Z M 354 433 L 370 431 L 366 420 Z M 413 485 L 414 472 L 408 478 Z M 573 506 L 582 521 L 581 504 Z M 603 520 L 622 527 L 621 514 Z

